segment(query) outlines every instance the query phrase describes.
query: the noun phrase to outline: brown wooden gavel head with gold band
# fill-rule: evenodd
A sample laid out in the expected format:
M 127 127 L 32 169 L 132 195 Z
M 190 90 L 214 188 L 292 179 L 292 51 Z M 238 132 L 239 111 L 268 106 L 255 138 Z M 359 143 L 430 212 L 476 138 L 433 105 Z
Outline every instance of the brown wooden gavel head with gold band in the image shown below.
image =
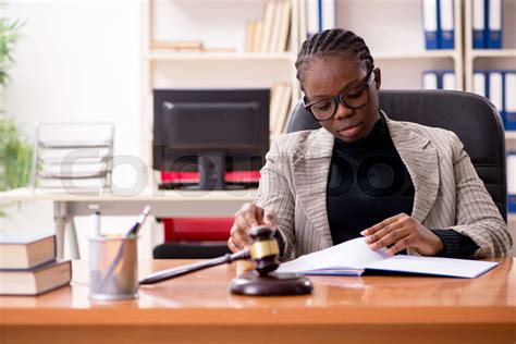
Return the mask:
M 255 226 L 249 232 L 253 239 L 249 254 L 255 261 L 255 269 L 260 275 L 266 275 L 280 266 L 280 248 L 273 234 L 274 232 L 267 225 Z

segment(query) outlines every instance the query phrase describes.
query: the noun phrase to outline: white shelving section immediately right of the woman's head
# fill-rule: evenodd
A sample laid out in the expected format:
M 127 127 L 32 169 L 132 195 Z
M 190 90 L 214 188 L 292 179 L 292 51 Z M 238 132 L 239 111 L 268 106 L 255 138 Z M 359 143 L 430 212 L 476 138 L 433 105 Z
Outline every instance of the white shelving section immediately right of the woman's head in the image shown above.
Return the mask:
M 455 49 L 425 50 L 420 0 L 336 0 L 336 25 L 364 37 L 382 88 L 421 88 L 426 70 L 453 70 L 464 89 L 462 25 L 455 25 Z M 455 1 L 455 23 L 462 23 L 462 0 Z M 401 77 L 403 75 L 403 77 Z

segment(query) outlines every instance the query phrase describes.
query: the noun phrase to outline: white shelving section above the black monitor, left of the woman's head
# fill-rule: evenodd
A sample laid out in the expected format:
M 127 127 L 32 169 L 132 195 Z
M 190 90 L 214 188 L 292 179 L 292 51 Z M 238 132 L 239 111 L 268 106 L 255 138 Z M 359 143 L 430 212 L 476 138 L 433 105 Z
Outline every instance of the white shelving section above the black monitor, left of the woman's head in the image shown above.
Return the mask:
M 151 170 L 152 89 L 155 88 L 270 88 L 290 83 L 298 99 L 295 77 L 298 0 L 291 1 L 286 52 L 244 52 L 246 22 L 262 20 L 266 0 L 145 0 L 142 4 L 142 143 Z M 151 40 L 200 40 L 223 52 L 176 52 L 152 49 Z

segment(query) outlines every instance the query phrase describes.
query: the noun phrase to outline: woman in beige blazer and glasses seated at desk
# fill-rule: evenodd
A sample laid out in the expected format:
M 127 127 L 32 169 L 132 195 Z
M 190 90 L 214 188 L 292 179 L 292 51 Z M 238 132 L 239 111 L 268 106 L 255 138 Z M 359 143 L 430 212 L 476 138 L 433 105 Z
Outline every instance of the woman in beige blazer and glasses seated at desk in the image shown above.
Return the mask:
M 296 69 L 305 108 L 322 128 L 272 144 L 258 197 L 235 214 L 233 251 L 266 223 L 278 230 L 283 260 L 360 235 L 391 255 L 507 253 L 507 226 L 457 136 L 381 111 L 380 69 L 363 38 L 340 28 L 316 34 Z

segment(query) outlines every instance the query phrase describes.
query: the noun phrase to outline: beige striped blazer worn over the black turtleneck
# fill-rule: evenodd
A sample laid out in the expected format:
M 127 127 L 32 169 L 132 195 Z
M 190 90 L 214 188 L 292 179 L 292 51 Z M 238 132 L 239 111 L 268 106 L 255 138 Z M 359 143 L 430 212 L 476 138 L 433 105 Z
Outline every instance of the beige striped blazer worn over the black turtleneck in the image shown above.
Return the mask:
M 429 229 L 452 229 L 480 247 L 476 257 L 504 256 L 507 225 L 458 137 L 445 130 L 386 120 L 414 183 L 411 217 Z M 255 202 L 277 212 L 285 242 L 283 260 L 333 245 L 327 184 L 334 136 L 324 128 L 275 139 L 261 170 Z M 353 217 L 342 209 L 343 217 Z

